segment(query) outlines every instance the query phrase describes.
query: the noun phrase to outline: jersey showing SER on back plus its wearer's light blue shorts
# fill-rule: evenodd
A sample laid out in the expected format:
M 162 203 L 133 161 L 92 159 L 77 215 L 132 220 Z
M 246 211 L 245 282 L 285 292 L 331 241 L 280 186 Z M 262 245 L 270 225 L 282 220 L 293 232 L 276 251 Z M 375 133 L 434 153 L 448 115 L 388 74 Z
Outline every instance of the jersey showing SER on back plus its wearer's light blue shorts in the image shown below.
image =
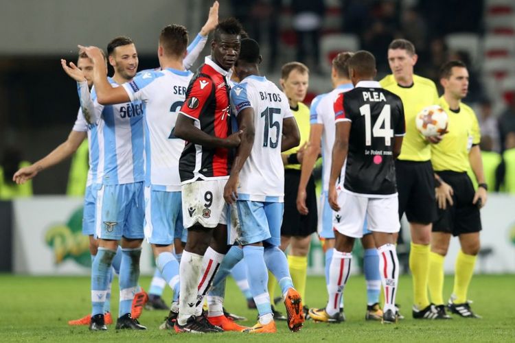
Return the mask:
M 152 244 L 182 238 L 179 158 L 185 142 L 174 136 L 179 109 L 193 73 L 146 71 L 124 84 L 131 101 L 145 105 L 145 236 Z

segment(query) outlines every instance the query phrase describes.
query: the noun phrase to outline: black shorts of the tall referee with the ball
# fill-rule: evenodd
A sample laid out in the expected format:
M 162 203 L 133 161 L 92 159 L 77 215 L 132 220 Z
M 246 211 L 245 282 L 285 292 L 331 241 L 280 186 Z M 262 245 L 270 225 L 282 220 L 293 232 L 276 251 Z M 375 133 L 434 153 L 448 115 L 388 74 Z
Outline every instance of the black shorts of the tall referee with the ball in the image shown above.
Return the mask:
M 431 224 L 436 220 L 435 176 L 431 161 L 396 161 L 399 218 Z

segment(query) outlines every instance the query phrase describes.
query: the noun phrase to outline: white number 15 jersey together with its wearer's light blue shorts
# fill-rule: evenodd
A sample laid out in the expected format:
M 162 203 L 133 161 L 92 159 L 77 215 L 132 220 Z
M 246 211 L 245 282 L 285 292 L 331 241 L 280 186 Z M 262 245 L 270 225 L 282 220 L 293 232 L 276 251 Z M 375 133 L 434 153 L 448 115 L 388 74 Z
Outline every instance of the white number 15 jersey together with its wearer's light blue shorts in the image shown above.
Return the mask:
M 283 120 L 293 117 L 282 91 L 262 76 L 251 75 L 231 89 L 236 117 L 254 112 L 255 139 L 240 171 L 238 217 L 242 245 L 266 241 L 279 246 L 284 212 L 284 166 L 281 158 Z

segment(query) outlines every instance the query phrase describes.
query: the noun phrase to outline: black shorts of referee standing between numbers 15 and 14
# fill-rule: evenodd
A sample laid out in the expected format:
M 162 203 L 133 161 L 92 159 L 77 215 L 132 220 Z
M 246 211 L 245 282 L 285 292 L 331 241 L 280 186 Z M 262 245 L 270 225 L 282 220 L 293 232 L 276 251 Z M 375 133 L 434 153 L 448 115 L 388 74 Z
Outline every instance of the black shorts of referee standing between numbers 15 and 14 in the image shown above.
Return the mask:
M 306 206 L 308 215 L 301 215 L 297 210 L 297 191 L 299 190 L 301 171 L 286 169 L 284 171 L 284 215 L 282 217 L 282 236 L 306 237 L 317 232 L 317 196 L 314 192 L 313 176 L 306 186 Z

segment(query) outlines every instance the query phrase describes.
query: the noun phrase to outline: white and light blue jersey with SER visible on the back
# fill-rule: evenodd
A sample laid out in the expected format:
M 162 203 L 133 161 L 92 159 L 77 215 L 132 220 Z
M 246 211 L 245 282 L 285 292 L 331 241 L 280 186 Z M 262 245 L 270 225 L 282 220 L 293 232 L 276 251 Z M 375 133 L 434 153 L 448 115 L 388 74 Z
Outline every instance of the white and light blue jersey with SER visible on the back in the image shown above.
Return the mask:
M 124 84 L 130 101 L 145 106 L 145 183 L 156 191 L 181 191 L 179 158 L 184 141 L 174 136 L 193 73 L 176 69 L 146 71 Z

